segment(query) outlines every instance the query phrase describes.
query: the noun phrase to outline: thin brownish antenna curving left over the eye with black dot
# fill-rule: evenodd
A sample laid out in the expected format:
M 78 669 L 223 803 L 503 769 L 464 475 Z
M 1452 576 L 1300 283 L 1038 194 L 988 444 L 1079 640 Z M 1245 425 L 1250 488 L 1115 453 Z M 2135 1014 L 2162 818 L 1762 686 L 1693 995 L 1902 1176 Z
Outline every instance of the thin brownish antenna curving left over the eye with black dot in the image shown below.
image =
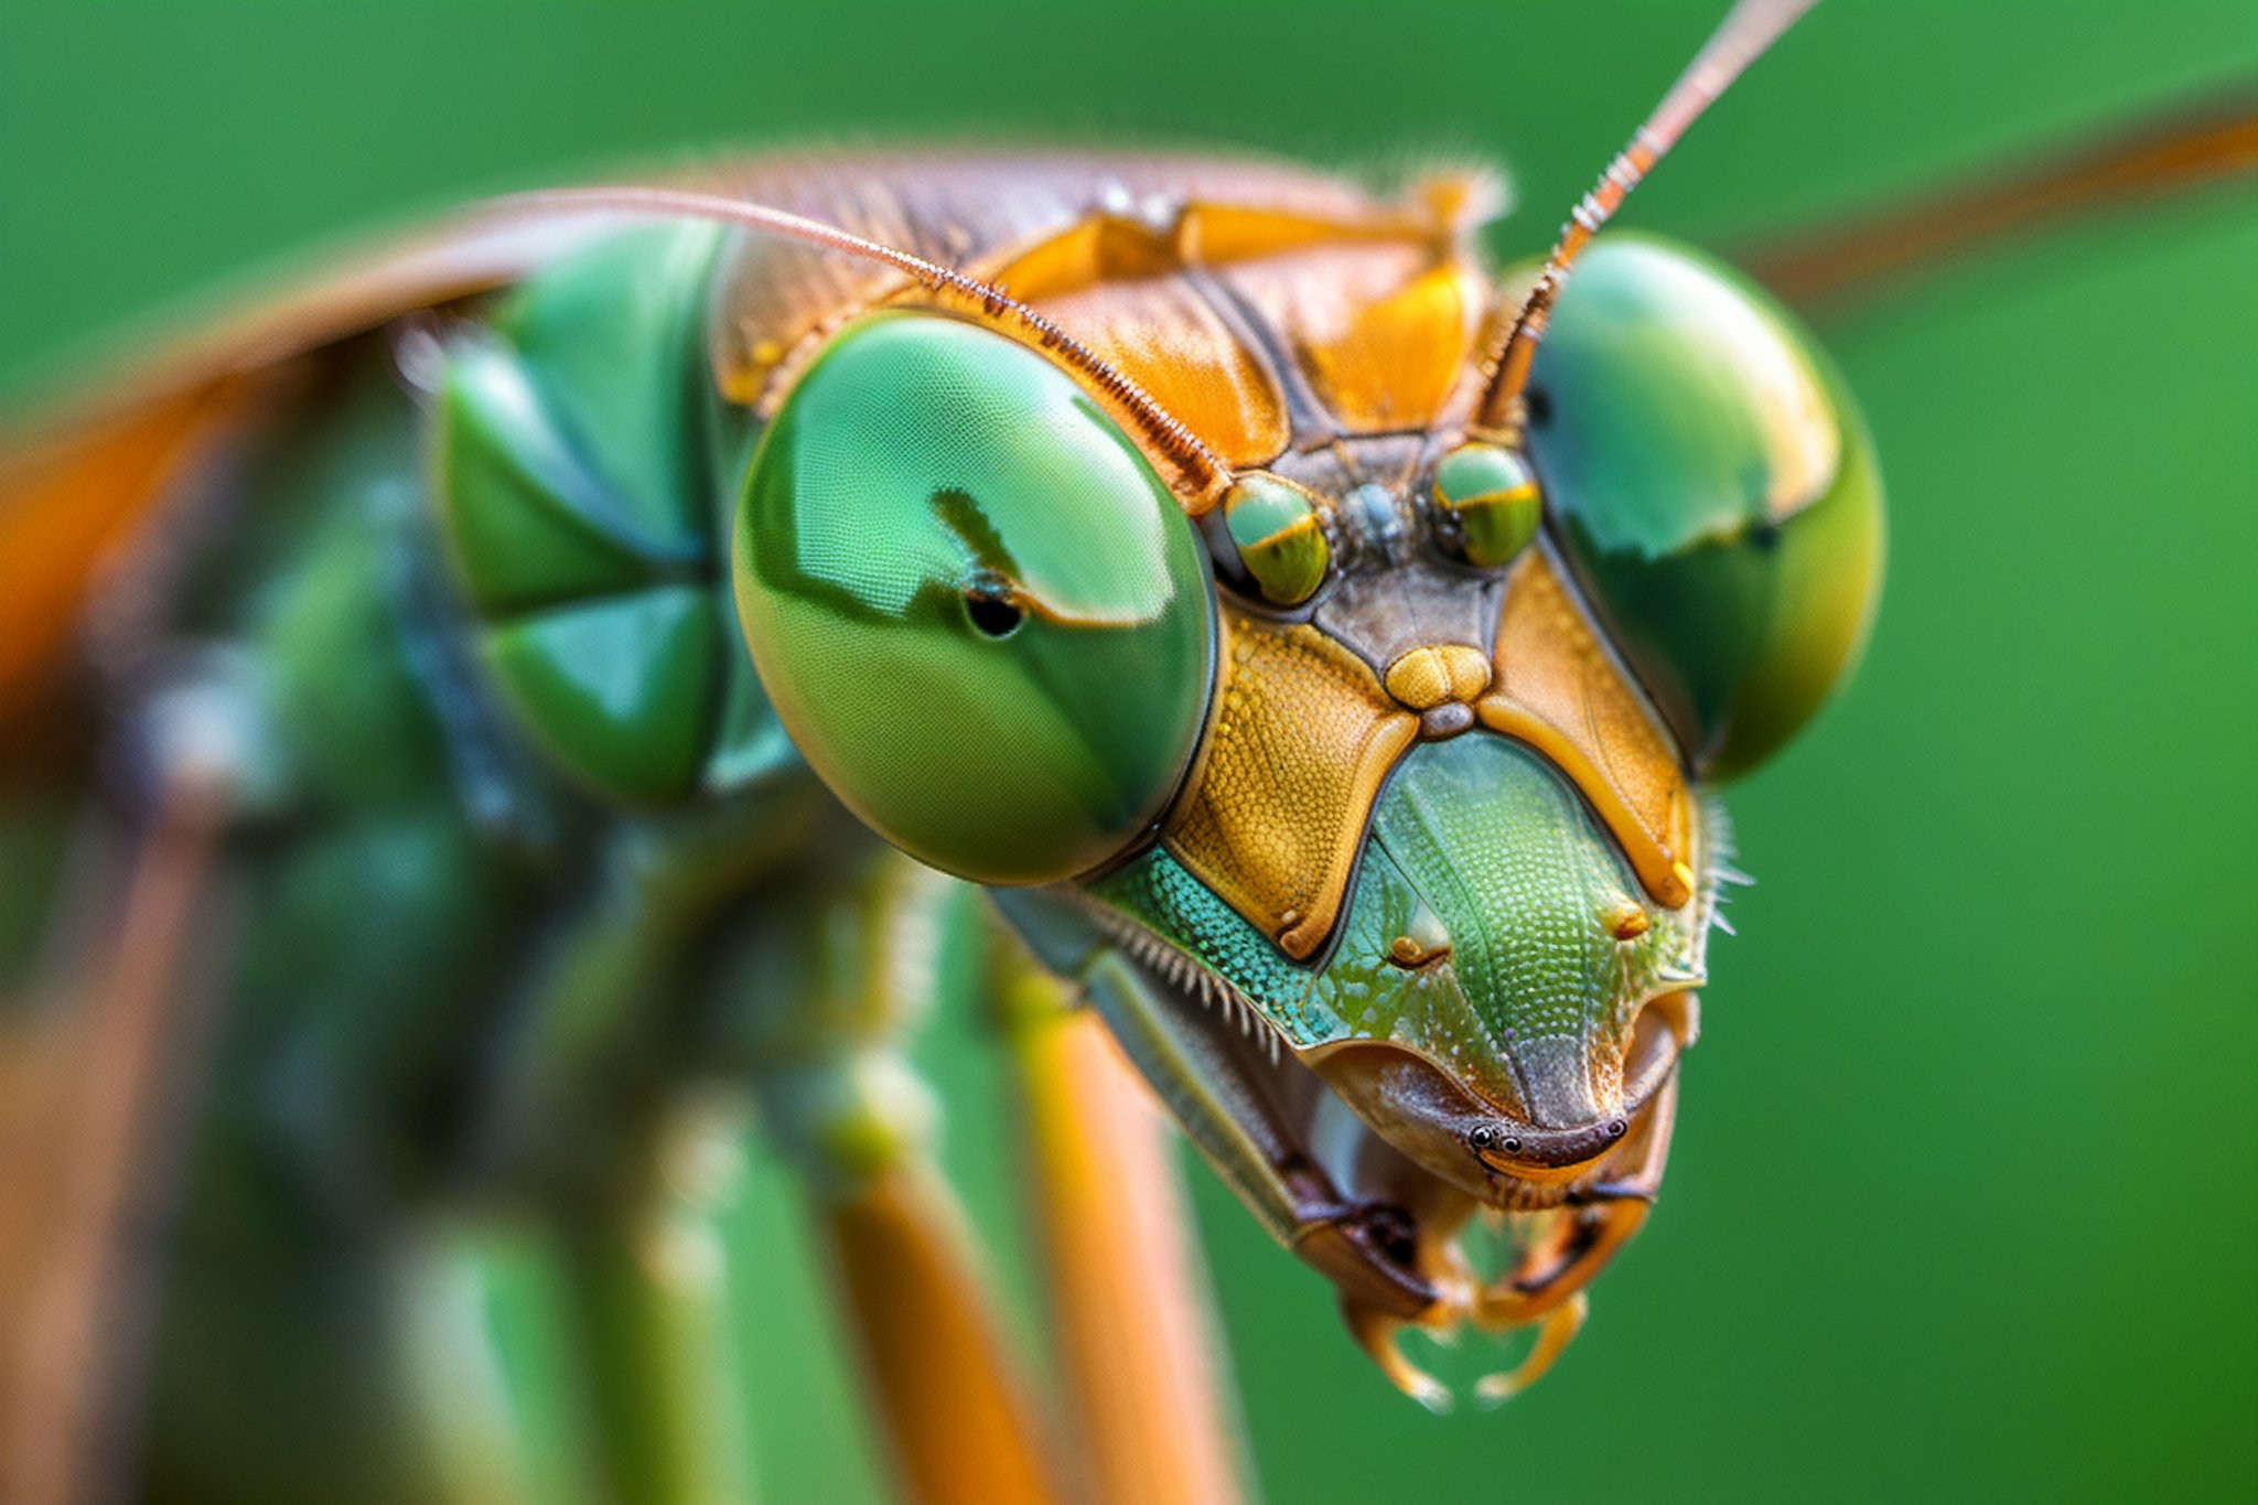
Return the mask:
M 1018 298 L 1012 298 L 994 282 L 966 278 L 962 271 L 942 266 L 939 262 L 928 262 L 921 255 L 896 250 L 883 241 L 865 239 L 851 230 L 840 230 L 838 226 L 826 226 L 820 219 L 806 219 L 804 214 L 793 214 L 788 210 L 675 187 L 551 187 L 495 199 L 485 205 L 485 210 L 499 214 L 580 212 L 718 219 L 732 226 L 745 226 L 747 230 L 759 230 L 763 235 L 784 235 L 788 239 L 806 241 L 808 246 L 822 246 L 824 250 L 838 250 L 840 255 L 863 257 L 865 262 L 881 262 L 894 271 L 908 273 L 944 302 L 971 309 L 989 323 L 1016 325 L 1030 334 L 1036 345 L 1082 372 L 1082 377 L 1086 377 L 1100 393 L 1120 404 L 1154 449 L 1165 454 L 1197 487 L 1190 512 L 1204 512 L 1224 492 L 1224 487 L 1231 485 L 1228 467 L 1224 467 L 1224 463 L 1199 440 L 1197 433 L 1154 402 L 1145 388 L 1097 359 L 1097 352 L 1088 345 L 1030 309 Z

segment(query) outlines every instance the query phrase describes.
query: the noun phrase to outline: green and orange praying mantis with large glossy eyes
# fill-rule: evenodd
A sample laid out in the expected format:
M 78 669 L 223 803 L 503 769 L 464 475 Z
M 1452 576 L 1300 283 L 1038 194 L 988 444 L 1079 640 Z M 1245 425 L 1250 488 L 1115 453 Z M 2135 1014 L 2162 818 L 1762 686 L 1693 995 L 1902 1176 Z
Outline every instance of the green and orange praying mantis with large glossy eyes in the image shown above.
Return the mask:
M 120 887 L 160 918 L 167 896 L 178 905 L 169 948 L 147 941 L 163 925 L 124 932 L 108 997 L 154 1009 L 133 977 L 194 954 L 190 878 L 248 864 L 233 903 L 251 950 L 230 961 L 244 982 L 228 1018 L 269 1027 L 255 1045 L 255 1024 L 221 1031 L 205 1101 L 255 1108 L 201 1130 L 183 1169 L 192 1187 L 212 1185 L 199 1171 L 273 1182 L 260 1196 L 282 1207 L 260 1236 L 296 1259 L 228 1248 L 251 1236 L 242 1223 L 199 1255 L 212 1246 L 194 1239 L 196 1209 L 224 1223 L 242 1207 L 192 1194 L 190 1259 L 163 1279 L 203 1282 L 203 1311 L 242 1334 L 228 1343 L 260 1329 L 291 1343 L 305 1322 L 275 1313 L 291 1311 L 291 1273 L 312 1270 L 343 1282 L 348 1306 L 384 1306 L 377 1331 L 395 1343 L 436 1331 L 454 1354 L 438 1374 L 377 1376 L 422 1385 L 409 1399 L 355 1394 L 377 1379 L 325 1374 L 321 1354 L 244 1365 L 275 1390 L 246 1383 L 242 1406 L 296 1392 L 314 1412 L 285 1440 L 303 1458 L 235 1419 L 273 1478 L 531 1489 L 535 1379 L 506 1374 L 483 1410 L 445 1415 L 461 1349 L 438 1295 L 517 1282 L 551 1291 L 528 1349 L 562 1331 L 594 1356 L 583 1403 L 603 1419 L 601 1482 L 583 1487 L 725 1489 L 743 1464 L 732 1428 L 711 1424 L 725 1406 L 698 1349 L 711 1315 L 698 1282 L 653 1266 L 711 1259 L 691 1252 L 711 1241 L 671 1223 L 662 1151 L 680 1146 L 662 1128 L 684 1083 L 727 1081 L 804 1167 L 910 1489 L 1059 1487 L 948 1250 L 921 1153 L 930 1119 L 892 1047 L 914 1015 L 975 993 L 1016 1000 L 1005 1018 L 1030 1031 L 1030 1056 L 1095 1054 L 1077 1081 L 1115 1070 L 1111 1047 L 1075 1042 L 1102 1018 L 1258 1221 L 1339 1286 L 1402 1385 L 1436 1399 L 1389 1345 L 1407 1320 L 1538 1327 L 1499 1394 L 1565 1345 L 1585 1279 L 1660 1180 L 1730 871 L 1700 774 L 1761 758 L 1854 652 L 1876 528 L 1865 445 L 1793 323 L 1698 255 L 1601 241 L 1540 345 L 1517 334 L 1542 273 L 1508 271 L 1493 291 L 1470 259 L 1472 185 L 1389 203 L 1316 174 L 1240 171 L 957 160 L 795 187 L 786 165 L 784 187 L 752 203 L 781 203 L 790 226 L 698 187 L 519 203 L 472 230 L 497 257 L 524 255 L 540 210 L 555 241 L 537 273 L 470 269 L 429 311 L 325 341 L 334 361 L 289 372 L 300 390 L 199 390 L 169 415 L 151 465 L 205 424 L 233 438 L 251 408 L 278 431 L 230 456 L 242 469 L 196 472 L 224 476 L 201 505 L 219 519 L 203 537 L 226 551 L 135 551 L 149 598 L 97 623 L 129 659 L 167 645 L 163 663 L 111 670 L 131 686 L 117 736 L 140 769 Z M 844 214 L 793 208 L 822 205 L 840 174 L 883 185 L 908 244 L 849 246 Z M 1045 174 L 1073 219 L 1041 237 L 978 226 L 987 185 L 1043 199 Z M 1323 298 L 1285 275 L 1301 269 L 1276 284 L 1253 271 L 1294 257 L 1316 262 Z M 515 291 L 470 291 L 495 280 Z M 795 287 L 840 300 L 793 307 L 813 298 L 779 291 Z M 1673 314 L 1694 323 L 1673 329 Z M 1657 343 L 1612 357 L 1624 327 Z M 1206 354 L 1183 359 L 1185 345 Z M 1610 429 L 1648 372 L 1707 381 L 1716 350 L 1748 357 L 1716 390 L 1763 402 L 1696 413 L 1689 445 L 1730 433 L 1739 449 L 1657 458 Z M 1653 402 L 1666 417 L 1669 393 Z M 1779 413 L 1797 422 L 1775 433 Z M 135 463 L 122 433 L 81 454 Z M 1684 476 L 1714 458 L 1741 478 L 1750 456 L 1766 485 L 1727 496 L 1752 512 L 1723 528 L 1709 517 L 1671 544 L 1642 535 L 1651 512 L 1605 512 L 1637 494 L 1662 496 L 1662 521 L 1678 505 L 1626 463 Z M 415 494 L 436 523 L 402 505 Z M 865 501 L 883 510 L 849 512 Z M 196 503 L 165 505 L 194 517 Z M 1818 535 L 1802 528 L 1820 523 L 1804 564 Z M 1723 663 L 1680 652 L 1716 634 L 1655 616 L 1716 589 L 1700 571 L 1669 578 L 1673 548 L 1709 535 L 1741 551 L 1709 560 L 1725 575 L 1809 571 L 1748 587 L 1743 607 L 1804 580 L 1820 593 L 1793 630 L 1725 634 Z M 402 560 L 425 564 L 384 575 Z M 1043 966 L 984 939 L 964 887 L 865 828 L 994 884 Z M 1445 875 L 1495 851 L 1547 853 L 1533 878 L 1488 878 L 1526 907 L 1452 907 Z M 1547 927 L 1563 936 L 1544 952 L 1558 975 L 1499 941 Z M 1091 1011 L 1061 1022 L 1045 972 Z M 1470 975 L 1488 993 L 1470 995 Z M 345 1002 L 294 1020 L 309 982 Z M 1050 1081 L 1030 1065 L 1030 1103 L 1050 1101 Z M 1100 1164 L 1120 1151 L 1102 1135 L 1091 1151 L 1091 1135 L 1070 1124 L 1052 1148 Z M 318 1196 L 291 1160 L 321 1169 Z M 1109 1169 L 1165 1196 L 1149 1167 Z M 406 1209 L 481 1198 L 551 1232 L 531 1255 L 415 1250 L 427 1286 L 368 1248 Z M 1504 1214 L 1499 1264 L 1479 1275 L 1454 1250 L 1474 1207 Z M 1059 1234 L 1057 1266 L 1091 1261 L 1102 1291 L 1172 1284 L 1167 1259 L 1143 1264 L 1138 1286 L 1064 1218 Z M 402 1286 L 438 1295 L 420 1309 Z M 926 1343 L 935 1331 L 955 1345 Z M 203 1390 L 192 1358 L 167 1358 L 194 1349 L 194 1331 L 165 1329 L 158 1394 L 167 1379 Z M 1122 1358 L 1091 1352 L 1093 1372 Z M 924 1415 L 935 1397 L 971 1415 Z M 1082 1408 L 1082 1428 L 1104 1433 L 1106 1406 Z M 158 1467 L 201 1478 L 196 1460 L 174 1462 L 163 1419 Z M 1147 1451 L 1120 1476 L 1167 1498 L 1156 1467 Z M 1222 1473 L 1201 1491 L 1224 1489 Z

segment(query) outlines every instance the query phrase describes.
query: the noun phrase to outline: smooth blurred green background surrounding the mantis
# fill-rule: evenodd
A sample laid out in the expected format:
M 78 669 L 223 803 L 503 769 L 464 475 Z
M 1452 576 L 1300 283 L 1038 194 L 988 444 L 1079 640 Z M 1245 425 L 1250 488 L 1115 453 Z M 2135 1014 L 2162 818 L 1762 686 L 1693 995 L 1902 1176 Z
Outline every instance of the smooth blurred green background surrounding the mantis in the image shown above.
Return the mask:
M 0 7 L 0 402 L 273 253 L 727 144 L 1504 160 L 1533 250 L 1723 5 Z M 1840 0 L 1626 223 L 1734 248 L 2258 65 L 2244 0 Z M 1822 325 L 1892 557 L 1847 697 L 1732 792 L 1675 1164 L 1533 1394 L 1436 1419 L 1194 1171 L 1271 1500 L 2159 1498 L 2258 1478 L 2258 192 Z M 935 1056 L 1007 1223 L 996 1083 Z M 770 1498 L 874 1489 L 777 1171 Z M 1023 1273 L 1018 1273 L 1023 1277 Z M 1461 1379 L 1479 1356 L 1454 1358 Z

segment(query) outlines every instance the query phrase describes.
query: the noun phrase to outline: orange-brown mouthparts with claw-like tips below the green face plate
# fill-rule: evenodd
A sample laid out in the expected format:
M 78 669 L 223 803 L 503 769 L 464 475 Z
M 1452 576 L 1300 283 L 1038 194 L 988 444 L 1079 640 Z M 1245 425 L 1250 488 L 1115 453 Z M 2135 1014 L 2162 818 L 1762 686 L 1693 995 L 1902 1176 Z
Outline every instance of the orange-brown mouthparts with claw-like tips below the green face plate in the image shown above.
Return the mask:
M 1332 1282 L 1350 1336 L 1391 1385 L 1429 1410 L 1452 1406 L 1452 1390 L 1398 1347 L 1404 1327 L 1533 1329 L 1515 1365 L 1472 1388 L 1486 1406 L 1558 1361 L 1583 1327 L 1585 1286 L 1660 1187 L 1678 1058 L 1698 1029 L 1691 993 L 1648 997 L 1612 1040 L 1585 1036 L 1581 1065 L 1547 1079 L 1574 1090 L 1493 1097 L 1402 1040 L 1280 1038 L 1174 943 L 1118 918 L 1106 930 L 1147 988 L 1138 1029 L 1158 1027 L 1176 1058 L 1199 1063 L 1194 1101 L 1228 1106 L 1237 1160 L 1219 1169 L 1271 1187 L 1251 1205 L 1271 1198 L 1274 1232 Z M 1490 1270 L 1461 1250 L 1477 1216 L 1511 1232 L 1511 1255 Z

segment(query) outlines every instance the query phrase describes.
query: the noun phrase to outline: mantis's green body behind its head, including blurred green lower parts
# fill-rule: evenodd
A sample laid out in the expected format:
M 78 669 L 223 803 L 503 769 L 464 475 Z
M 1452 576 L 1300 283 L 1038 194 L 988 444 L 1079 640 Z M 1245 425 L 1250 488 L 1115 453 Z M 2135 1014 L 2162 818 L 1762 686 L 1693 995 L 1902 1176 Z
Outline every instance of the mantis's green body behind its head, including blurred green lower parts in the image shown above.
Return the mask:
M 384 341 L 332 352 L 181 562 L 176 688 L 235 733 L 221 889 L 253 923 L 192 1081 L 138 1494 L 743 1498 L 743 1180 L 671 1171 L 750 1128 L 684 1103 L 752 1094 L 817 1196 L 930 1153 L 903 1047 L 964 1006 L 984 914 L 838 810 L 761 695 L 709 255 L 549 269 L 449 334 L 429 404 Z

